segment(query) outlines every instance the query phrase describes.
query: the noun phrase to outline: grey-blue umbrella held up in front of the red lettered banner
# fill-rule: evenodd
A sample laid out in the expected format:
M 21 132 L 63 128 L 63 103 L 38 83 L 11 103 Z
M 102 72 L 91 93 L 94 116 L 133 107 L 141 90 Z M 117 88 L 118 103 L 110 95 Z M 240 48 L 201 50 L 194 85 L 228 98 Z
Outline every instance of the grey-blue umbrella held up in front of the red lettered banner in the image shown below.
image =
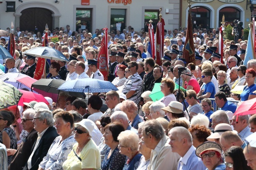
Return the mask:
M 69 62 L 68 59 L 58 50 L 51 47 L 36 47 L 24 52 L 26 55 L 41 57 L 52 60 L 60 60 Z

